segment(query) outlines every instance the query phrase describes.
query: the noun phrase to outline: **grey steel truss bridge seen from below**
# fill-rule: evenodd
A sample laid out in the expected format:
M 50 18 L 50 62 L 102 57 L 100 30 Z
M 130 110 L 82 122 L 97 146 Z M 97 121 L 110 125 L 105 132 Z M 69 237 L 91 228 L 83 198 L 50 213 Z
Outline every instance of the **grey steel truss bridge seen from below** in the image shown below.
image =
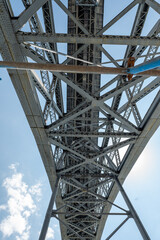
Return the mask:
M 112 9 L 107 8 L 108 2 L 17 0 L 22 12 L 16 15 L 15 1 L 0 0 L 4 61 L 77 69 L 65 73 L 45 67 L 8 68 L 53 192 L 40 240 L 45 239 L 51 217 L 59 220 L 63 240 L 99 240 L 109 215 L 126 218 L 106 240 L 130 218 L 142 238 L 150 239 L 122 184 L 160 125 L 160 77 L 142 73 L 128 81 L 125 72 L 101 75 L 80 69 L 88 65 L 101 69 L 106 61 L 115 69 L 127 68 L 129 57 L 135 58 L 135 64 L 154 59 L 160 46 L 159 17 L 150 29 L 146 26 L 150 11 L 159 16 L 160 4 L 128 0 L 117 13 L 112 1 Z M 59 15 L 66 15 L 63 33 L 56 26 L 58 8 Z M 106 22 L 114 10 L 114 17 Z M 124 33 L 114 34 L 112 27 L 121 20 L 124 25 L 117 26 Z M 60 26 L 61 16 L 58 21 Z M 65 43 L 63 50 L 59 43 Z M 153 92 L 153 101 L 142 106 Z M 127 210 L 114 203 L 119 191 Z M 117 213 L 111 213 L 112 206 Z

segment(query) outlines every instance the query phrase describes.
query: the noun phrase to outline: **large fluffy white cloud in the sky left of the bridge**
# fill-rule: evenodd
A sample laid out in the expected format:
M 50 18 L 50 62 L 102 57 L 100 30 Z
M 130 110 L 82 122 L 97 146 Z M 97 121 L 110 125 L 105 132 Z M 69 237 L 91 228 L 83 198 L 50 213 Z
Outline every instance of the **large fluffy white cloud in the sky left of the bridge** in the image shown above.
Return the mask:
M 12 164 L 9 167 L 14 173 L 3 181 L 8 201 L 5 205 L 0 205 L 0 210 L 6 210 L 8 216 L 0 222 L 0 231 L 3 237 L 15 234 L 16 240 L 28 240 L 31 228 L 29 217 L 36 211 L 34 197 L 40 199 L 41 184 L 29 187 L 23 181 L 22 173 L 17 173 L 16 166 L 17 164 Z

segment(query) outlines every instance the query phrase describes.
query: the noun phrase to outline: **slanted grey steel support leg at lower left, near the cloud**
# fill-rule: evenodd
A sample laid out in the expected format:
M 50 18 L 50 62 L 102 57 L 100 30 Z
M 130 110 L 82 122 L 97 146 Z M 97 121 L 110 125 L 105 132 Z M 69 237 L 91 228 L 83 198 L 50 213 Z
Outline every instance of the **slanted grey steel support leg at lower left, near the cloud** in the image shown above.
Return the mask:
M 47 209 L 47 212 L 46 212 L 46 216 L 45 216 L 45 219 L 44 219 L 44 223 L 43 223 L 43 227 L 42 227 L 42 230 L 41 230 L 41 234 L 39 236 L 39 240 L 45 240 L 45 238 L 46 238 L 46 233 L 47 233 L 49 222 L 50 222 L 50 218 L 51 218 L 51 215 L 52 215 L 53 204 L 55 202 L 55 198 L 56 198 L 56 194 L 57 194 L 59 180 L 60 180 L 60 178 L 57 177 L 56 183 L 55 183 L 55 187 L 54 187 L 54 190 L 52 192 L 51 200 L 49 202 L 49 206 L 48 206 L 48 209 Z

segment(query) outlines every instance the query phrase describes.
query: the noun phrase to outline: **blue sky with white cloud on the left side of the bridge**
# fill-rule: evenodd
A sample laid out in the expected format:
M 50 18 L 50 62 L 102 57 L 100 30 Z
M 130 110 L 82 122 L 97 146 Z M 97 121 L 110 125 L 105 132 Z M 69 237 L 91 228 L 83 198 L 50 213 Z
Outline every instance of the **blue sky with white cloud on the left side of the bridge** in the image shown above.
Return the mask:
M 50 186 L 34 137 L 6 70 L 1 70 L 0 76 L 0 239 L 38 239 L 51 194 Z M 18 199 L 14 197 L 16 195 Z M 28 205 L 24 204 L 17 213 L 11 212 L 12 208 L 18 208 L 20 202 L 25 201 Z M 19 226 L 19 220 L 23 222 L 22 226 Z M 56 220 L 53 227 L 57 234 Z

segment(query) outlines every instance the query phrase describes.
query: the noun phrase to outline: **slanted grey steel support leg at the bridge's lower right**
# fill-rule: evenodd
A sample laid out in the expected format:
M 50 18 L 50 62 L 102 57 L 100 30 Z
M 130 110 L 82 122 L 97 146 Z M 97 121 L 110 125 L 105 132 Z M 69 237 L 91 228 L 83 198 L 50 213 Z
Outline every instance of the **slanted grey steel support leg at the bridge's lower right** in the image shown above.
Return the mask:
M 138 214 L 136 213 L 136 210 L 134 209 L 132 203 L 130 202 L 130 200 L 129 200 L 125 190 L 123 189 L 123 187 L 122 187 L 122 185 L 121 185 L 121 183 L 120 183 L 120 181 L 119 181 L 119 179 L 117 177 L 115 177 L 115 181 L 116 181 L 116 183 L 117 183 L 117 185 L 119 187 L 119 190 L 120 190 L 120 192 L 121 192 L 121 194 L 122 194 L 122 196 L 123 196 L 123 198 L 124 198 L 128 208 L 129 208 L 129 210 L 131 212 L 131 216 L 133 217 L 133 219 L 134 219 L 134 221 L 135 221 L 135 223 L 136 223 L 136 225 L 137 225 L 137 227 L 138 227 L 138 229 L 139 229 L 143 239 L 144 240 L 151 240 L 149 235 L 148 235 L 148 233 L 147 233 L 147 231 L 145 230 L 145 228 L 144 228 L 140 218 L 138 217 Z

